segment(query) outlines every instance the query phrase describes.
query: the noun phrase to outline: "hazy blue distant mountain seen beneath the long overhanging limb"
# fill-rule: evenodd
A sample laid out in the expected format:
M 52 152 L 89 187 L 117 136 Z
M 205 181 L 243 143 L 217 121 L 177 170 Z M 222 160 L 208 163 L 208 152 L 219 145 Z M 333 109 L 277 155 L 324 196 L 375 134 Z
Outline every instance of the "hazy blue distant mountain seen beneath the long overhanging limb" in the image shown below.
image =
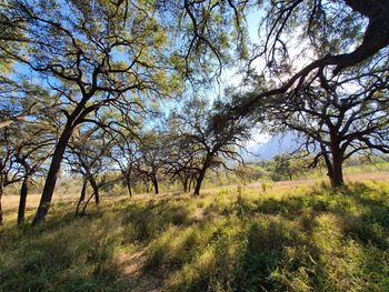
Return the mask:
M 245 153 L 247 161 L 270 160 L 277 154 L 291 152 L 296 149 L 296 134 L 273 135 L 269 141 L 257 143 L 248 149 L 251 153 Z

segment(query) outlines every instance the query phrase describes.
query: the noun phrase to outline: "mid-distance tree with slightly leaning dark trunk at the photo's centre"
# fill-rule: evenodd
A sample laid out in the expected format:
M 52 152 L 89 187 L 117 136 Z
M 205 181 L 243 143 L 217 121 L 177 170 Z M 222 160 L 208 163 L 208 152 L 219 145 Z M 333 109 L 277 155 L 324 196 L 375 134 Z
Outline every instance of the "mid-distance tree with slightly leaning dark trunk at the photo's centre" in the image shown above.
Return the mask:
M 212 108 L 199 99 L 186 104 L 183 112 L 176 119 L 181 123 L 180 134 L 187 141 L 187 148 L 194 154 L 197 164 L 194 195 L 200 193 L 201 184 L 209 169 L 223 167 L 228 170 L 228 160 L 242 161 L 238 152 L 242 142 L 250 137 L 247 119 L 226 119 L 225 104 L 215 102 Z

